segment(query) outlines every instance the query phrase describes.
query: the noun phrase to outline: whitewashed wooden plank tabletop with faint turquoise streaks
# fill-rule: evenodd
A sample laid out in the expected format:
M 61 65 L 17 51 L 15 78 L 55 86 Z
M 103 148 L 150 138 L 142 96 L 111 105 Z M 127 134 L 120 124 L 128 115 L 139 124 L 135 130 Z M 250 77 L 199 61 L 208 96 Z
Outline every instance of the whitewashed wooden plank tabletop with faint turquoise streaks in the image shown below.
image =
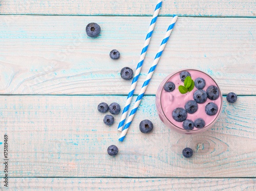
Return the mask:
M 10 190 L 256 190 L 256 6 L 253 0 L 163 1 L 135 91 L 138 94 L 173 14 L 179 18 L 132 127 L 119 142 L 101 102 L 120 103 L 136 69 L 156 1 L 2 0 L 0 149 L 8 135 Z M 102 31 L 92 39 L 86 25 Z M 117 49 L 119 60 L 109 53 Z M 181 68 L 211 75 L 224 94 L 218 122 L 181 135 L 156 113 L 160 82 Z M 226 94 L 236 92 L 235 104 Z M 151 134 L 140 121 L 154 123 Z M 116 145 L 111 157 L 106 148 Z M 194 156 L 185 159 L 190 147 Z M 0 170 L 5 176 L 4 164 Z M 3 180 L 3 179 L 2 179 Z M 0 183 L 4 189 L 4 183 Z

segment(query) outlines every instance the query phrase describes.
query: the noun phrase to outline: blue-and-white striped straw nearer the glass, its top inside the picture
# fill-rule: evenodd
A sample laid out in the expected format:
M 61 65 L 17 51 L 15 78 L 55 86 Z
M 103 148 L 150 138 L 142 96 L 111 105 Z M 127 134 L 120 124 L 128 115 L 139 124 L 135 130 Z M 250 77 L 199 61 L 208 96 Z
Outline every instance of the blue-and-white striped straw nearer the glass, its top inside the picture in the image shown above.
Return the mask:
M 171 22 L 170 26 L 168 27 L 168 29 L 167 29 L 167 31 L 165 33 L 164 39 L 163 39 L 163 41 L 162 41 L 162 43 L 161 43 L 161 45 L 159 47 L 158 53 L 157 53 L 157 55 L 155 57 L 155 60 L 153 61 L 153 64 L 152 64 L 152 66 L 150 68 L 150 71 L 148 71 L 148 73 L 147 73 L 146 79 L 145 79 L 145 81 L 144 81 L 144 83 L 143 83 L 143 85 L 141 87 L 139 96 L 136 99 L 136 102 L 134 104 L 133 110 L 131 111 L 131 113 L 130 113 L 130 115 L 128 117 L 127 123 L 123 127 L 123 130 L 121 132 L 121 136 L 119 138 L 120 141 L 123 141 L 123 139 L 124 139 L 128 129 L 129 129 L 129 127 L 130 127 L 130 125 L 131 125 L 131 123 L 133 121 L 133 117 L 135 115 L 135 112 L 137 111 L 137 109 L 138 109 L 138 107 L 140 105 L 140 101 L 141 101 L 141 99 L 142 99 L 142 97 L 143 97 L 143 95 L 144 95 L 144 93 L 146 91 L 148 83 L 150 83 L 151 77 L 152 77 L 152 75 L 153 75 L 153 73 L 155 71 L 155 68 L 157 66 L 157 63 L 158 63 L 158 61 L 159 61 L 159 59 L 160 59 L 160 57 L 162 55 L 162 52 L 164 50 L 166 42 L 168 41 L 170 33 L 172 32 L 172 30 L 174 28 L 174 25 L 175 25 L 175 22 L 176 22 L 177 18 L 178 18 L 178 16 L 174 15 L 174 17 L 172 19 L 172 22 Z

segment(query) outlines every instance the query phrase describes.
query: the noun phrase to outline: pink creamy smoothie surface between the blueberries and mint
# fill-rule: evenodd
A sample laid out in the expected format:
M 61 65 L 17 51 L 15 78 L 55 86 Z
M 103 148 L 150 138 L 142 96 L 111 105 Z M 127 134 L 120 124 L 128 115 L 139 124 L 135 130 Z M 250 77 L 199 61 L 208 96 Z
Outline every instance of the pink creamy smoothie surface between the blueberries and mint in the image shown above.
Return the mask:
M 203 90 L 206 91 L 206 89 L 211 85 L 215 85 L 216 87 L 218 87 L 217 84 L 215 83 L 215 81 L 212 80 L 208 75 L 201 73 L 200 71 L 197 71 L 197 70 L 186 70 L 186 71 L 189 72 L 192 80 L 194 80 L 194 81 L 197 78 L 203 78 L 205 80 L 206 85 L 203 88 Z M 162 105 L 163 112 L 171 123 L 173 123 L 174 125 L 183 129 L 183 127 L 182 127 L 183 122 L 177 122 L 174 120 L 173 115 L 172 115 L 173 110 L 178 107 L 181 107 L 184 109 L 185 103 L 187 101 L 194 100 L 193 94 L 198 89 L 195 86 L 192 91 L 182 94 L 178 89 L 178 87 L 180 85 L 184 85 L 184 83 L 180 79 L 180 73 L 177 73 L 174 76 L 172 76 L 167 82 L 173 82 L 175 84 L 175 90 L 172 92 L 166 92 L 164 89 L 162 89 L 161 105 Z M 219 91 L 220 91 L 220 89 L 219 89 Z M 202 118 L 205 122 L 205 127 L 208 126 L 218 116 L 218 113 L 219 113 L 219 110 L 220 110 L 221 104 L 222 104 L 221 100 L 222 100 L 221 96 L 219 96 L 219 98 L 217 100 L 209 100 L 207 98 L 205 103 L 203 103 L 203 104 L 198 103 L 198 110 L 195 113 L 193 113 L 193 114 L 187 113 L 186 119 L 194 122 L 197 118 Z M 215 103 L 218 106 L 218 112 L 212 116 L 207 115 L 205 112 L 205 106 L 210 102 Z M 197 130 L 197 128 L 194 128 L 194 130 Z

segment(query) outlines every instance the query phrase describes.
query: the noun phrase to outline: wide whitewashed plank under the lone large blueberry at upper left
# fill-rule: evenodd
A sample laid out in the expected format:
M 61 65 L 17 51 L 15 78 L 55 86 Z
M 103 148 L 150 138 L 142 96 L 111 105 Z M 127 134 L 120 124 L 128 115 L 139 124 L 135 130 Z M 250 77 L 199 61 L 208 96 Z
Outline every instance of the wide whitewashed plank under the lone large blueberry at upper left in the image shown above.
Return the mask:
M 102 28 L 89 38 L 87 23 Z M 160 17 L 138 82 L 157 53 L 170 17 Z M 256 94 L 254 18 L 178 19 L 146 94 L 181 68 L 198 68 L 219 83 L 224 94 Z M 1 94 L 127 94 L 125 66 L 136 69 L 150 17 L 1 16 Z M 109 52 L 118 49 L 119 60 Z

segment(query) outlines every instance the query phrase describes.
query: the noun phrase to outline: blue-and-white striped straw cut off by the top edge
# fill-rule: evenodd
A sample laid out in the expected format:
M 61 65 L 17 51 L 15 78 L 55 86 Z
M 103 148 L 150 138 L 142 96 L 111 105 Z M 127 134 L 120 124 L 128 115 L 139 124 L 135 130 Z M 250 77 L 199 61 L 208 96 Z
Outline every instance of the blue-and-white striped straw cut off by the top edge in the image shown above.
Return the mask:
M 132 101 L 133 93 L 134 93 L 134 90 L 135 90 L 135 87 L 136 87 L 136 84 L 137 84 L 137 81 L 138 81 L 138 78 L 139 78 L 139 75 L 140 75 L 140 70 L 141 70 L 145 55 L 146 55 L 148 44 L 150 43 L 150 39 L 151 39 L 153 30 L 155 28 L 155 24 L 156 24 L 156 21 L 157 21 L 157 16 L 158 16 L 161 5 L 162 5 L 162 0 L 158 0 L 156 9 L 155 9 L 154 14 L 153 14 L 153 18 L 152 18 L 151 23 L 150 23 L 150 29 L 148 29 L 146 39 L 145 39 L 145 42 L 144 42 L 144 45 L 143 45 L 143 49 L 142 49 L 141 54 L 140 54 L 140 60 L 139 60 L 139 63 L 137 65 L 137 68 L 136 68 L 136 71 L 135 71 L 135 76 L 133 78 L 133 82 L 132 82 L 130 91 L 128 93 L 127 100 L 126 100 L 125 106 L 123 108 L 123 113 L 122 113 L 122 116 L 121 116 L 121 120 L 120 120 L 120 123 L 119 123 L 118 128 L 117 128 L 118 131 L 122 131 L 123 124 L 124 124 L 124 121 L 125 121 L 125 117 L 127 115 L 127 112 L 129 110 L 129 107 L 130 107 L 130 104 L 131 104 L 131 101 Z

